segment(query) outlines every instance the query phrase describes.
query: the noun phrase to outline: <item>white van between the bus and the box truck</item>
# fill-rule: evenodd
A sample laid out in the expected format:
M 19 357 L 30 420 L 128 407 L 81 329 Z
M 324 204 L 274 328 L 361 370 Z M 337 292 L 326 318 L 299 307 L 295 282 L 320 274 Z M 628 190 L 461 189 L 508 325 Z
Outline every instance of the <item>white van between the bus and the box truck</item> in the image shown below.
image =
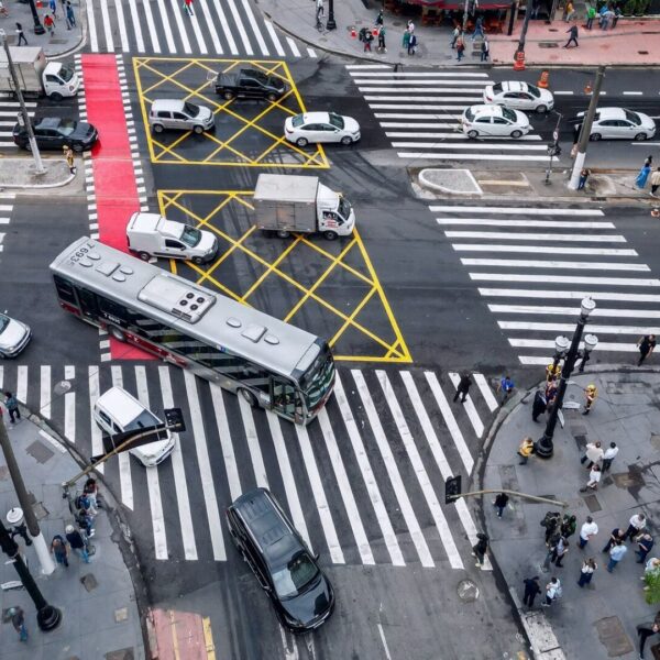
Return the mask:
M 218 239 L 202 229 L 167 220 L 158 213 L 136 212 L 127 227 L 129 250 L 147 261 L 152 256 L 186 258 L 202 264 L 218 252 Z

